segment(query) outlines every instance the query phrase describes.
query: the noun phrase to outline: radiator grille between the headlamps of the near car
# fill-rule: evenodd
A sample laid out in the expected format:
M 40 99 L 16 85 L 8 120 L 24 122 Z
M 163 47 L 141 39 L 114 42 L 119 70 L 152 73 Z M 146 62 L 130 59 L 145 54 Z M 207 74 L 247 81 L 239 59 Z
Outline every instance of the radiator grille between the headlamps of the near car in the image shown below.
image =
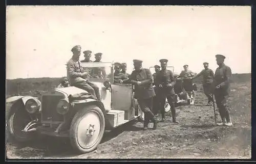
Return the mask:
M 63 121 L 63 115 L 57 113 L 57 104 L 62 96 L 59 95 L 47 95 L 42 96 L 42 121 Z

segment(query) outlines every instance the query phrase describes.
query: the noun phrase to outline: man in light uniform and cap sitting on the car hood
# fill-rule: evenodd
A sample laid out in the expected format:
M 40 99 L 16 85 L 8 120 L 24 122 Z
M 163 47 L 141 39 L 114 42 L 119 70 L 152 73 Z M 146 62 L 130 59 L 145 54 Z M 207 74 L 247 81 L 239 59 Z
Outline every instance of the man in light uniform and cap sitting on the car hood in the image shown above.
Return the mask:
M 89 72 L 83 71 L 81 62 L 79 61 L 81 46 L 76 45 L 71 51 L 73 52 L 73 56 L 67 63 L 67 74 L 70 85 L 88 91 L 95 99 L 100 101 L 99 88 L 86 78 Z

